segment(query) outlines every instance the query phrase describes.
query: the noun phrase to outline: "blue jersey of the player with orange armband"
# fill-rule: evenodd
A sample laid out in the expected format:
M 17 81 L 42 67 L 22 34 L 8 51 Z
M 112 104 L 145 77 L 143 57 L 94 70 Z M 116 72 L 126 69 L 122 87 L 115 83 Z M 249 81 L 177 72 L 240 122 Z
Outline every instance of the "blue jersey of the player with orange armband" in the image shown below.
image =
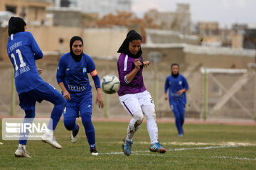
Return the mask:
M 68 90 L 72 99 L 79 99 L 82 96 L 92 97 L 92 87 L 89 77 L 97 77 L 95 63 L 89 55 L 82 54 L 80 62 L 75 62 L 70 52 L 60 57 L 57 69 L 58 84 L 63 82 L 65 89 Z M 99 79 L 99 78 L 97 78 Z M 98 80 L 100 82 L 100 80 Z M 100 84 L 96 86 L 100 87 Z

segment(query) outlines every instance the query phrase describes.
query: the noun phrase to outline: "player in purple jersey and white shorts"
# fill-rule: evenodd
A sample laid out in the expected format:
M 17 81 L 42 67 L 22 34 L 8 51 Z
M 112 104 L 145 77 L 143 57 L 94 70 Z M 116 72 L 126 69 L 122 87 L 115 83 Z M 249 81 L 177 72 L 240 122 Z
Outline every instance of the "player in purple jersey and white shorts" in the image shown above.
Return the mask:
M 117 92 L 119 101 L 124 109 L 132 115 L 127 128 L 127 137 L 124 139 L 123 152 L 129 156 L 132 149 L 132 138 L 142 124 L 146 115 L 146 128 L 149 132 L 151 152 L 165 153 L 158 141 L 158 128 L 154 101 L 144 86 L 142 70 L 150 62 L 142 59 L 142 37 L 135 30 L 129 31 L 127 38 L 117 52 L 121 53 L 117 61 L 120 89 Z

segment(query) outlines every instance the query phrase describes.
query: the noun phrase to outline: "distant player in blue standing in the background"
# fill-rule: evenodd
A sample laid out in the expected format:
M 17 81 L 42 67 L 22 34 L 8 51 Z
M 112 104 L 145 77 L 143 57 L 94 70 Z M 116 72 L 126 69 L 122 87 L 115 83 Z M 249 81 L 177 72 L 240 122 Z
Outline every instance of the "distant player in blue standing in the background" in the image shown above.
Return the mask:
M 164 98 L 167 100 L 167 90 L 169 89 L 169 103 L 174 113 L 178 136 L 183 136 L 183 123 L 185 120 L 186 91 L 188 82 L 183 75 L 178 73 L 178 64 L 171 64 L 171 75 L 166 78 L 164 86 Z

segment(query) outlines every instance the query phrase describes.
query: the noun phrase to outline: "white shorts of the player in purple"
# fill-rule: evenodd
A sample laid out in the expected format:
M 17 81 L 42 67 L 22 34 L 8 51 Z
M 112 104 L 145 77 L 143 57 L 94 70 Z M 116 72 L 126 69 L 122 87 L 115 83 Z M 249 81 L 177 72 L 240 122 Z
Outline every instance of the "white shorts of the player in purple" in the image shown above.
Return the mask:
M 154 101 L 149 94 L 149 91 L 144 91 L 138 94 L 125 94 L 124 96 L 119 96 L 119 101 L 124 109 L 131 115 L 134 115 L 137 111 L 141 111 L 142 105 L 154 106 Z

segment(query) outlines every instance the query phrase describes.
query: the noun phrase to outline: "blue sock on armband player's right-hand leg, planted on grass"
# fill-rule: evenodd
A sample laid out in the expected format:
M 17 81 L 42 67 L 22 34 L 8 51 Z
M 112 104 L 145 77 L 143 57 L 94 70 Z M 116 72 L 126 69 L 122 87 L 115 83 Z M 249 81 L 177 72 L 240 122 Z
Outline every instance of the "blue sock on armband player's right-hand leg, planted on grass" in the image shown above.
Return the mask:
M 81 114 L 82 118 L 82 125 L 85 127 L 85 134 L 90 146 L 90 149 L 95 148 L 96 149 L 96 144 L 95 144 L 95 129 L 92 125 L 92 119 L 91 119 L 91 114 Z

